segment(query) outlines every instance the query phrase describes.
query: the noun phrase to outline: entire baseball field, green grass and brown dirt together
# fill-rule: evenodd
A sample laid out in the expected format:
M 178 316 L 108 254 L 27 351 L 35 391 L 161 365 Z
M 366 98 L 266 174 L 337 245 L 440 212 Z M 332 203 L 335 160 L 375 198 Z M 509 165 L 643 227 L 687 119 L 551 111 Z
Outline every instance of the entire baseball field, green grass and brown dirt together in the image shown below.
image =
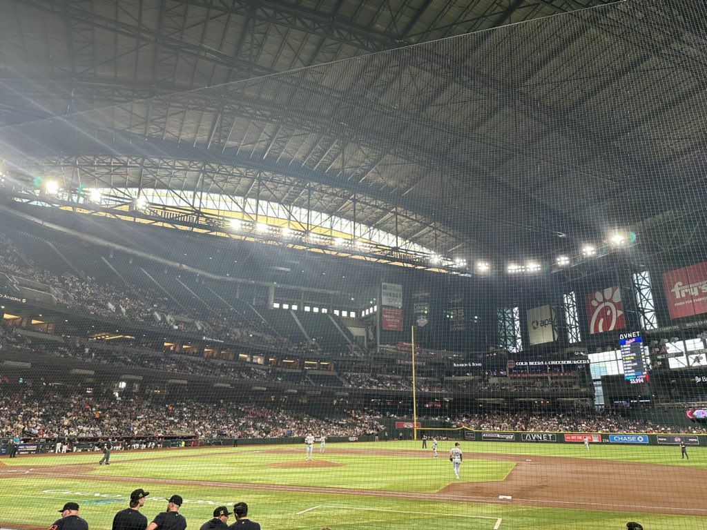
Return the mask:
M 48 528 L 64 502 L 81 505 L 91 529 L 110 529 L 135 488 L 150 492 L 151 521 L 165 498 L 185 498 L 189 528 L 214 507 L 245 501 L 263 530 L 707 529 L 707 452 L 609 444 L 462 442 L 457 481 L 440 442 L 208 447 L 22 455 L 0 461 L 0 528 Z M 231 517 L 229 523 L 233 522 Z

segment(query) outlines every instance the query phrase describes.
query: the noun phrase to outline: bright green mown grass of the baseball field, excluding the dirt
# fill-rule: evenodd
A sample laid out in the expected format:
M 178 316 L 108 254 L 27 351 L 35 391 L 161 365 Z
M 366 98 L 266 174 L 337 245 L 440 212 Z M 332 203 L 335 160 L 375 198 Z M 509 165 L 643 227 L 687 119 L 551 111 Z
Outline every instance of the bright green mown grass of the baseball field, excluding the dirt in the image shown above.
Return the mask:
M 127 495 L 134 488 L 151 492 L 144 514 L 151 520 L 166 506 L 165 497 L 179 493 L 185 497 L 182 513 L 190 529 L 197 529 L 211 518 L 214 507 L 245 501 L 252 519 L 263 530 L 332 530 L 395 529 L 445 530 L 478 529 L 617 529 L 626 521 L 638 520 L 646 530 L 707 528 L 706 518 L 677 515 L 607 512 L 599 510 L 557 510 L 524 507 L 496 502 L 452 502 L 416 499 L 415 494 L 434 493 L 454 481 L 445 452 L 451 442 L 440 443 L 440 459 L 431 458 L 431 450 L 420 449 L 420 442 L 380 442 L 329 444 L 329 453 L 316 454 L 316 461 L 340 464 L 333 467 L 276 467 L 303 460 L 302 446 L 209 447 L 169 449 L 153 452 L 112 455 L 111 466 L 97 464 L 100 453 L 66 454 L 59 457 L 21 457 L 2 459 L 6 464 L 0 478 L 0 528 L 33 524 L 49 526 L 57 510 L 69 500 L 81 505 L 81 514 L 91 530 L 110 529 L 113 514 L 127 506 Z M 415 458 L 400 454 L 382 457 L 366 454 L 368 449 L 395 451 L 415 449 Z M 291 452 L 296 449 L 296 452 Z M 337 454 L 337 449 L 362 449 L 361 454 Z M 581 444 L 503 444 L 462 442 L 466 454 L 522 454 L 583 459 L 607 459 L 703 468 L 703 449 L 689 448 L 691 460 L 680 461 L 675 447 L 634 447 L 593 445 L 589 452 Z M 575 464 L 576 465 L 576 464 Z M 51 470 L 54 476 L 42 478 L 25 474 L 23 469 Z M 62 469 L 66 467 L 66 473 Z M 23 469 L 20 469 L 23 468 Z M 513 469 L 512 462 L 474 459 L 462 464 L 462 482 L 503 481 Z M 571 466 L 568 466 L 571 469 Z M 77 478 L 76 473 L 87 475 Z M 159 482 L 156 482 L 159 481 Z M 170 485 L 170 481 L 190 481 L 189 485 Z M 221 483 L 220 486 L 214 483 Z M 253 484 L 249 488 L 247 484 Z M 320 488 L 355 488 L 393 496 L 332 495 L 262 490 L 255 485 L 293 485 Z M 630 483 L 629 483 L 630 484 Z M 578 485 L 578 492 L 580 491 Z M 703 485 L 696 485 L 701 491 Z M 629 489 L 630 491 L 630 485 Z M 395 493 L 411 493 L 405 498 Z M 568 492 L 574 494 L 576 492 Z M 696 497 L 696 500 L 699 496 Z M 699 502 L 699 500 L 698 500 Z M 230 522 L 233 522 L 231 519 Z

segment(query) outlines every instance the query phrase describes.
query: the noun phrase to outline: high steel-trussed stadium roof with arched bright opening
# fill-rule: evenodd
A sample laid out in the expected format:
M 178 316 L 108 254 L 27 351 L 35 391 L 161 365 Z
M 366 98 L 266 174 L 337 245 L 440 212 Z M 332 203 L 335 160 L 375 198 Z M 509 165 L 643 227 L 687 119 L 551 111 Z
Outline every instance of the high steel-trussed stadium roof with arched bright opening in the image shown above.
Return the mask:
M 702 8 L 601 4 L 1 0 L 5 171 L 448 259 L 689 246 Z

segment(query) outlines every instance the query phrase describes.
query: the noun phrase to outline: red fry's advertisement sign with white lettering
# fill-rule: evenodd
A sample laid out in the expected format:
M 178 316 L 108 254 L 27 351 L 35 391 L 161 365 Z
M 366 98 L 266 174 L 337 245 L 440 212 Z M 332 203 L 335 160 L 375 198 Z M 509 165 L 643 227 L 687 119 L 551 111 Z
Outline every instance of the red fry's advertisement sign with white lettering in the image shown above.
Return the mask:
M 707 312 L 707 261 L 663 274 L 663 290 L 670 318 Z

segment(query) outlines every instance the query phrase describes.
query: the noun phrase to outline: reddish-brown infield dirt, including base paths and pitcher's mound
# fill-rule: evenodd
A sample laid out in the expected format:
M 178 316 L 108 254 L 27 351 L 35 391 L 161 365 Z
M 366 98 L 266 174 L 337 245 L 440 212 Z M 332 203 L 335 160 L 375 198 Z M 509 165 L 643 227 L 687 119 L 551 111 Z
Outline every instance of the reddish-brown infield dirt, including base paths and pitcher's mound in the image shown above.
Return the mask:
M 327 447 L 327 449 L 329 449 Z M 198 451 L 198 449 L 194 449 Z M 296 449 L 268 449 L 271 453 L 300 454 Z M 226 454 L 226 452 L 223 452 Z M 233 453 L 230 453 L 233 454 Z M 361 454 L 361 456 L 419 457 L 426 453 L 410 450 L 336 449 L 332 454 Z M 197 455 L 194 455 L 197 456 Z M 201 455 L 199 455 L 201 456 Z M 203 455 L 214 457 L 214 453 Z M 132 477 L 95 476 L 90 471 L 98 464 L 71 464 L 67 466 L 36 466 L 33 457 L 23 457 L 22 466 L 0 463 L 0 481 L 3 478 L 52 477 L 90 481 L 134 483 Z M 464 469 L 474 466 L 474 460 L 508 461 L 515 464 L 503 481 L 464 483 Z M 277 465 L 277 464 L 276 464 Z M 292 466 L 288 463 L 287 466 Z M 332 462 L 316 460 L 302 462 L 303 467 L 336 466 Z M 450 473 L 451 473 L 450 464 Z M 223 490 L 248 488 L 262 491 L 291 493 L 320 493 L 327 495 L 358 495 L 362 497 L 390 497 L 413 500 L 479 502 L 487 504 L 553 507 L 570 510 L 607 510 L 612 512 L 645 512 L 707 517 L 699 492 L 707 483 L 707 470 L 689 467 L 639 464 L 633 462 L 580 459 L 566 457 L 537 457 L 509 454 L 464 453 L 462 482 L 455 482 L 436 493 L 387 492 L 358 490 L 356 488 L 315 488 L 274 484 L 222 483 L 199 480 L 169 480 L 141 478 L 144 484 L 202 485 Z M 510 497 L 510 500 L 499 497 Z

